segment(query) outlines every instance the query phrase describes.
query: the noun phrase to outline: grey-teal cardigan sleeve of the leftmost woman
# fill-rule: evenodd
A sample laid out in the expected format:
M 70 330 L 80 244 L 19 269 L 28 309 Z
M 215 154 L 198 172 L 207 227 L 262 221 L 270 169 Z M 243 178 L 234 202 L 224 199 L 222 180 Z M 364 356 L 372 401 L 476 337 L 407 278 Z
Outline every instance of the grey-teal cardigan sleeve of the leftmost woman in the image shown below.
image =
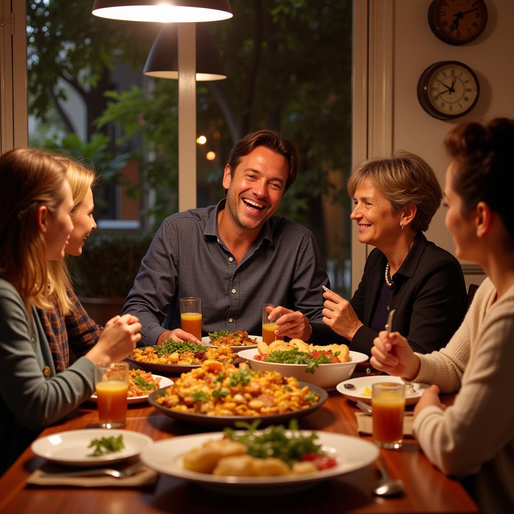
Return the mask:
M 0 394 L 20 425 L 41 429 L 59 420 L 94 390 L 94 364 L 81 357 L 59 375 L 45 378 L 48 343 L 33 316 L 33 329 L 20 295 L 0 280 Z M 54 372 L 53 372 L 54 373 Z

